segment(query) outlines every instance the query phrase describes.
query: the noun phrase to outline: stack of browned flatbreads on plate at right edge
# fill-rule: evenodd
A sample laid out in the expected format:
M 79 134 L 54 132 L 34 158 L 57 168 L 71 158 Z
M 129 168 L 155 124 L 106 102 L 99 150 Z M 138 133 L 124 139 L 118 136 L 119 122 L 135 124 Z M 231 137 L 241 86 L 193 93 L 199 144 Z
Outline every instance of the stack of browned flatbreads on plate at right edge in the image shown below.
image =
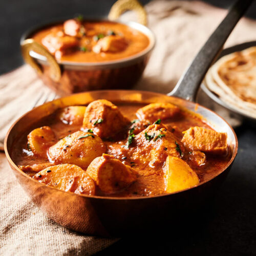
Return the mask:
M 234 111 L 256 118 L 256 47 L 220 58 L 204 84 Z

